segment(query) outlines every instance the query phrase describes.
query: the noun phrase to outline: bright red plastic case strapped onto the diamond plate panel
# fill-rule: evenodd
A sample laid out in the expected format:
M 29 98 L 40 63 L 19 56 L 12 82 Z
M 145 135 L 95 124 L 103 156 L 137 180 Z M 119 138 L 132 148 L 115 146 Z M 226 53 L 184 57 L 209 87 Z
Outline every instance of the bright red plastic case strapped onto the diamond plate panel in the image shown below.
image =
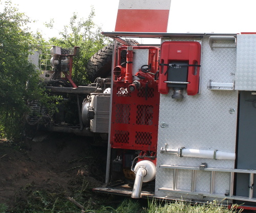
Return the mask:
M 201 44 L 197 41 L 165 41 L 161 45 L 160 64 L 169 64 L 173 61 L 188 62 L 188 64 L 200 65 Z M 167 65 L 161 65 L 159 73 L 158 89 L 162 94 L 167 94 Z M 194 96 L 199 90 L 200 67 L 188 66 L 187 94 Z

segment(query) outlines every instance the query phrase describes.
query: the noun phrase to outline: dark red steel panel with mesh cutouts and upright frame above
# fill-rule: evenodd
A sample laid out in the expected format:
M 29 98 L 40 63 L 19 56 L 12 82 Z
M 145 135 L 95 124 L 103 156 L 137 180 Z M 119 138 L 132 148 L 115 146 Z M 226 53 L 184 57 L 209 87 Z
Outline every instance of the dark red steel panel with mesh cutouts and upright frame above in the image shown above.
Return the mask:
M 160 93 L 154 74 L 157 71 L 159 48 L 152 46 L 133 46 L 133 48 L 150 50 L 148 63 L 154 62 L 155 65 L 150 73 L 143 75 L 148 76 L 150 80 L 153 79 L 154 82 L 146 82 L 144 78 L 138 80 L 144 82 L 139 89 L 131 92 L 127 89 L 130 83 L 124 81 L 125 76 L 122 75 L 124 72 L 118 72 L 118 76 L 113 75 L 110 143 L 112 148 L 156 151 Z M 127 50 L 127 46 L 118 49 L 117 67 L 119 68 L 122 50 Z M 153 52 L 155 52 L 154 56 Z

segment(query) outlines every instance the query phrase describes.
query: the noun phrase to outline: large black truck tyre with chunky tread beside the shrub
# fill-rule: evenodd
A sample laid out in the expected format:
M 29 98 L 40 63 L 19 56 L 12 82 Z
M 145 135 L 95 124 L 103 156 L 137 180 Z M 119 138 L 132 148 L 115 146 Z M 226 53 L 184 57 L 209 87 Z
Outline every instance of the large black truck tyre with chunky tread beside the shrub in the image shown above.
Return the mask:
M 126 40 L 129 45 L 138 44 L 134 39 Z M 120 46 L 120 43 L 117 43 Z M 86 73 L 88 79 L 94 82 L 96 78 L 106 78 L 111 76 L 112 68 L 112 54 L 113 54 L 114 42 L 104 46 L 101 50 L 95 53 L 87 63 Z

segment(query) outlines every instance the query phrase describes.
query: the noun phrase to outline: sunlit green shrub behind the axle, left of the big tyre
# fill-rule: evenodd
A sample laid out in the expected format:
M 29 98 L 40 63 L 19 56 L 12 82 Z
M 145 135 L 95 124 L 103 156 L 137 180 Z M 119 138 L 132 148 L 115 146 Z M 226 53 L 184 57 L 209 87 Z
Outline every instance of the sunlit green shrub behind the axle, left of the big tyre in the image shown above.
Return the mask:
M 79 18 L 77 13 L 73 13 L 70 18 L 69 26 L 64 26 L 61 38 L 51 38 L 49 43 L 60 46 L 61 48 L 71 49 L 79 46 L 79 55 L 74 57 L 73 62 L 73 80 L 77 85 L 89 83 L 86 77 L 85 67 L 91 56 L 103 46 L 110 43 L 110 40 L 101 34 L 101 28 L 95 25 L 93 17 L 94 9 L 91 9 L 86 20 Z M 47 27 L 53 27 L 54 21 L 46 24 Z

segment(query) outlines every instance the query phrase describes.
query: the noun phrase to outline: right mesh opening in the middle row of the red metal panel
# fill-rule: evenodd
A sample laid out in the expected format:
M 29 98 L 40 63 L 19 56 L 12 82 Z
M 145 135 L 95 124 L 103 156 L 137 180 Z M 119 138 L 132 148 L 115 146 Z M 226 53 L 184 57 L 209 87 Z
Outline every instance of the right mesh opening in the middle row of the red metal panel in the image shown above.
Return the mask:
M 153 122 L 153 106 L 152 105 L 137 105 L 136 124 L 152 125 Z

